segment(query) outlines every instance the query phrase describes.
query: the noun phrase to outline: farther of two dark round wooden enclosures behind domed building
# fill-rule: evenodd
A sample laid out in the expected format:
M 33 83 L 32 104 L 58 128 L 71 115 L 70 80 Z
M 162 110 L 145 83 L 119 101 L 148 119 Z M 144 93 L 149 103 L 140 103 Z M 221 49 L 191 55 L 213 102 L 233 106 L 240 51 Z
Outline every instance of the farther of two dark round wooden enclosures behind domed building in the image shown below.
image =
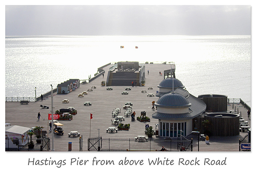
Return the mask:
M 203 94 L 198 98 L 206 104 L 206 110 L 212 112 L 222 112 L 228 109 L 228 96 L 219 94 Z

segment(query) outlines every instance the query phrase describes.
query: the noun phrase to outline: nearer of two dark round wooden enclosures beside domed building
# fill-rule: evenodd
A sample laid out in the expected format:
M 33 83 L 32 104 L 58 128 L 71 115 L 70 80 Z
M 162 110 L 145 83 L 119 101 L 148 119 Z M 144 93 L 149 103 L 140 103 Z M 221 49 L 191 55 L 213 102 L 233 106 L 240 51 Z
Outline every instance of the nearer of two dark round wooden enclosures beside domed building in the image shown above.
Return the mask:
M 207 130 L 212 136 L 235 136 L 239 135 L 240 116 L 231 113 L 208 113 L 204 120 L 210 120 Z

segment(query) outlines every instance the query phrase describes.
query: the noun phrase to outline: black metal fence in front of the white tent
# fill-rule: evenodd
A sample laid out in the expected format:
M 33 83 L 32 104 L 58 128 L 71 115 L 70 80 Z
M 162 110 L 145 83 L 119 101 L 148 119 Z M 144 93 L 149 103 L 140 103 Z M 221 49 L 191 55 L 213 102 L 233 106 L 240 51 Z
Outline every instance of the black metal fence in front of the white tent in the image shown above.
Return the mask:
M 30 138 L 5 138 L 5 151 L 49 151 L 50 138 L 32 138 L 33 148 L 29 147 Z

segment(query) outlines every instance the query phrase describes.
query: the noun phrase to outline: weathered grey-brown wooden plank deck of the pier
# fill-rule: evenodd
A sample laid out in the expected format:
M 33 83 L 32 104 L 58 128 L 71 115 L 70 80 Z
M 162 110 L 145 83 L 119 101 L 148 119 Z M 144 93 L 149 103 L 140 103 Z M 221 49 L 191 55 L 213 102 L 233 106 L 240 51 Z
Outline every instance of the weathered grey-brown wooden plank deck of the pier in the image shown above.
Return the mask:
M 108 69 L 112 65 L 104 67 L 106 74 Z M 121 92 L 125 91 L 126 86 L 108 86 L 112 87 L 113 90 L 106 90 L 106 86 L 101 86 L 101 81 L 106 81 L 106 74 L 104 78 L 102 76 L 96 78 L 88 84 L 80 84 L 80 87 L 69 94 L 56 94 L 54 93 L 53 105 L 54 112 L 61 108 L 74 107 L 77 110 L 77 114 L 73 116 L 71 121 L 60 121 L 64 124 L 64 135 L 54 134 L 54 150 L 55 151 L 68 151 L 68 142 L 72 142 L 72 151 L 79 151 L 79 138 L 68 137 L 70 131 L 78 131 L 84 138 L 83 151 L 87 151 L 87 138 L 89 136 L 98 137 L 98 129 L 100 129 L 100 136 L 102 138 L 134 138 L 138 135 L 144 135 L 145 124 L 155 127 L 158 124 L 158 120 L 152 118 L 152 114 L 156 110 L 151 109 L 151 102 L 157 101 L 158 97 L 148 97 L 148 93 L 156 94 L 158 90 L 157 85 L 163 80 L 163 76 L 159 75 L 159 71 L 170 69 L 169 64 L 146 64 L 146 85 L 145 86 L 134 86 L 129 90 L 128 95 L 122 95 Z M 149 74 L 147 71 L 149 70 Z M 177 77 L 178 78 L 178 77 Z M 186 86 L 186 82 L 182 82 Z M 92 86 L 96 86 L 92 92 L 88 92 L 88 95 L 84 97 L 78 97 L 78 94 Z M 152 87 L 153 90 L 148 90 L 148 87 Z M 49 84 L 50 89 L 50 84 Z M 142 90 L 146 90 L 146 93 L 142 93 Z M 193 94 L 192 94 L 193 95 Z M 62 100 L 68 99 L 69 103 L 62 103 Z M 84 106 L 84 102 L 91 102 L 92 106 Z M 118 131 L 117 133 L 107 133 L 106 128 L 113 127 L 111 124 L 112 110 L 115 108 L 121 108 L 121 114 L 124 114 L 122 106 L 126 102 L 133 103 L 133 111 L 136 112 L 136 116 L 140 116 L 141 111 L 146 111 L 146 116 L 150 117 L 150 122 L 132 122 L 131 118 L 128 117 L 124 124 L 130 124 L 130 130 Z M 38 102 L 30 102 L 29 104 L 20 104 L 20 102 L 6 102 L 5 103 L 5 122 L 12 125 L 19 125 L 25 127 L 44 126 L 44 130 L 48 128 L 48 113 L 51 109 L 42 109 L 40 105 L 49 106 L 51 108 L 51 99 L 46 99 Z M 242 106 L 242 105 L 236 105 Z M 228 110 L 232 110 L 232 106 L 228 106 Z M 242 115 L 249 126 L 251 126 L 250 120 L 247 118 L 247 110 L 244 107 L 239 107 L 239 111 L 242 111 Z M 37 114 L 40 112 L 41 118 L 38 121 Z M 91 120 L 91 131 L 90 131 L 90 113 L 92 113 Z M 45 118 L 45 120 L 43 120 Z M 117 127 L 117 125 L 115 125 Z M 50 128 L 49 128 L 50 129 Z M 204 141 L 200 141 L 200 151 L 238 151 L 238 140 L 242 139 L 247 133 L 240 132 L 238 136 L 230 137 L 210 137 L 210 144 L 206 144 Z M 52 138 L 52 133 L 48 133 L 48 137 Z M 153 136 L 153 138 L 157 138 Z M 195 134 L 187 136 L 188 139 L 193 138 L 193 151 L 197 151 L 198 139 Z

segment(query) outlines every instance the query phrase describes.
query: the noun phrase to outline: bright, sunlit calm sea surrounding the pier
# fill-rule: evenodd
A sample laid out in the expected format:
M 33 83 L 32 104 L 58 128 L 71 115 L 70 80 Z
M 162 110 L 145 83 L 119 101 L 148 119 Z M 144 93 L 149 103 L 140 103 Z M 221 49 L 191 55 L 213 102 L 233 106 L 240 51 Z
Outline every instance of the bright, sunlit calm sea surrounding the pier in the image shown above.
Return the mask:
M 125 49 L 120 49 L 125 46 Z M 134 49 L 138 46 L 139 49 Z M 251 105 L 250 36 L 6 37 L 6 97 L 37 97 L 109 62 L 175 62 L 194 96 L 225 94 Z

